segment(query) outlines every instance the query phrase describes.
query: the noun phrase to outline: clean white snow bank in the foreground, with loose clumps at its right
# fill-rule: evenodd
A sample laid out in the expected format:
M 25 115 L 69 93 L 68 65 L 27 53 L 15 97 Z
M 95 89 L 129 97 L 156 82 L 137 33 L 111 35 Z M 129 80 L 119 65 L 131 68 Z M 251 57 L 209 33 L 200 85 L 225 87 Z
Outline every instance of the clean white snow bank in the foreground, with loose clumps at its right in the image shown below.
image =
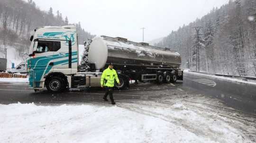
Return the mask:
M 196 130 L 175 124 L 171 118 L 157 118 L 127 108 L 36 106 L 33 103 L 0 105 L 0 143 L 218 143 L 210 137 L 198 135 Z M 183 111 L 180 115 L 176 112 L 176 118 L 192 115 L 192 120 L 196 120 L 196 113 L 183 109 L 183 105 L 177 104 L 174 108 Z M 168 109 L 161 111 L 173 113 Z M 201 128 L 201 122 L 198 121 L 198 128 Z M 229 133 L 229 128 L 221 131 L 225 129 L 221 126 L 219 124 L 216 138 L 227 134 L 227 139 L 222 139 L 221 143 L 242 140 L 236 131 Z

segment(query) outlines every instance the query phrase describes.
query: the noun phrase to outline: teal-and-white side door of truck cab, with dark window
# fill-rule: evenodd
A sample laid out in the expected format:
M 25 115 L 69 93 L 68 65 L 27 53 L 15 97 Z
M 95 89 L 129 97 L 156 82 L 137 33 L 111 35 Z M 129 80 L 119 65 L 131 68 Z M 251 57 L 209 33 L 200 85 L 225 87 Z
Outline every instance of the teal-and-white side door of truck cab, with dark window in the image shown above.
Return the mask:
M 30 83 L 33 87 L 42 87 L 44 76 L 54 70 L 55 61 L 59 58 L 56 51 L 61 48 L 60 41 L 37 40 L 34 42 L 33 58 L 30 59 Z M 32 85 L 31 85 L 32 86 Z

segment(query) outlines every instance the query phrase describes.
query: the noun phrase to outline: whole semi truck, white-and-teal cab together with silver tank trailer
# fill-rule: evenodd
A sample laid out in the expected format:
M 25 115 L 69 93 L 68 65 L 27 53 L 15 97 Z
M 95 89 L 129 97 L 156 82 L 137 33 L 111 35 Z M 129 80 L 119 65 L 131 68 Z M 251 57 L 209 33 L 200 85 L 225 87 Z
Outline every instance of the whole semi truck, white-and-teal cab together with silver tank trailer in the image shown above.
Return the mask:
M 103 35 L 93 38 L 89 46 L 90 71 L 79 72 L 78 36 L 73 25 L 35 29 L 27 60 L 30 88 L 61 92 L 100 87 L 101 74 L 110 63 L 118 72 L 120 84 L 115 87 L 119 89 L 128 88 L 130 80 L 157 84 L 183 80 L 176 51 Z

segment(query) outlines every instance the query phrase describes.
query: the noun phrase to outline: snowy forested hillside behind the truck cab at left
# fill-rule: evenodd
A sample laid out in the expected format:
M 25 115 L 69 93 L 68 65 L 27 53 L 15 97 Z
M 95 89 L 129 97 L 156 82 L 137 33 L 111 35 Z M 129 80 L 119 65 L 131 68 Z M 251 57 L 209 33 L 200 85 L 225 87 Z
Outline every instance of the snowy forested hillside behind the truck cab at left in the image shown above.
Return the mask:
M 36 27 L 70 25 L 68 17 L 58 10 L 40 10 L 33 0 L 0 0 L 0 45 L 29 45 L 29 37 Z M 93 35 L 77 25 L 79 43 L 91 39 Z M 25 48 L 25 47 L 24 47 Z M 27 48 L 27 47 L 26 47 Z M 0 52 L 3 48 L 1 47 Z

